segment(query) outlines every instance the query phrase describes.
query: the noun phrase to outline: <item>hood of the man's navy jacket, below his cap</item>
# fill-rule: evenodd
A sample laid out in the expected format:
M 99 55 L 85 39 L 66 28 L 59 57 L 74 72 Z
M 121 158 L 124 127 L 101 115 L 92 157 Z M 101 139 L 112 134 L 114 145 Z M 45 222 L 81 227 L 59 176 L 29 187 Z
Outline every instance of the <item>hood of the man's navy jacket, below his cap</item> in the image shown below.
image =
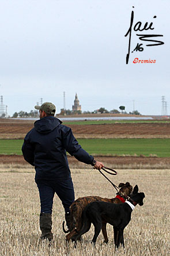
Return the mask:
M 43 117 L 40 120 L 35 121 L 34 127 L 39 133 L 50 133 L 52 132 L 58 125 L 62 124 L 62 121 L 56 117 Z

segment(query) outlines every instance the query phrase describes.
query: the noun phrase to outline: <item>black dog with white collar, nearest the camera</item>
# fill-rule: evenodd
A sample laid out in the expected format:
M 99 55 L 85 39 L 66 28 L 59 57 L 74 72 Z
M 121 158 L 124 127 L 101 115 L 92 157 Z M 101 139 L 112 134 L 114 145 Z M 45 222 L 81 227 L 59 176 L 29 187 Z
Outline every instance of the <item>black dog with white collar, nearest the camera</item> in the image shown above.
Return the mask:
M 114 226 L 114 242 L 115 248 L 118 248 L 120 243 L 124 247 L 123 231 L 131 220 L 131 213 L 134 207 L 138 204 L 143 205 L 143 192 L 138 193 L 138 186 L 135 185 L 133 194 L 130 199 L 125 203 L 113 204 L 106 202 L 93 202 L 85 207 L 83 213 L 83 225 L 81 231 L 75 235 L 75 241 L 88 232 L 91 224 L 95 226 L 95 235 L 93 236 L 92 243 L 96 243 L 97 236 L 101 231 L 102 222 L 108 222 Z

